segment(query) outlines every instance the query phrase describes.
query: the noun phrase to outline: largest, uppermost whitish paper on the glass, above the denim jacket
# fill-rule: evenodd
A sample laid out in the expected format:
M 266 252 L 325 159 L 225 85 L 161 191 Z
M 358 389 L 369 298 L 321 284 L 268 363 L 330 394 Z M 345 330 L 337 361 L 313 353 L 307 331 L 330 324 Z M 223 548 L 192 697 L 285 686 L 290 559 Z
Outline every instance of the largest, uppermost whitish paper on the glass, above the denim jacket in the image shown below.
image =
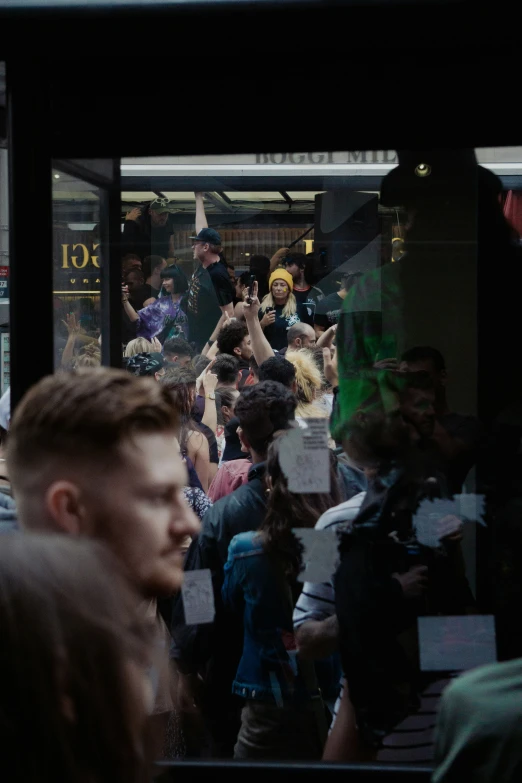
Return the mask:
M 328 419 L 306 419 L 306 428 L 290 430 L 281 443 L 279 461 L 290 492 L 330 492 Z

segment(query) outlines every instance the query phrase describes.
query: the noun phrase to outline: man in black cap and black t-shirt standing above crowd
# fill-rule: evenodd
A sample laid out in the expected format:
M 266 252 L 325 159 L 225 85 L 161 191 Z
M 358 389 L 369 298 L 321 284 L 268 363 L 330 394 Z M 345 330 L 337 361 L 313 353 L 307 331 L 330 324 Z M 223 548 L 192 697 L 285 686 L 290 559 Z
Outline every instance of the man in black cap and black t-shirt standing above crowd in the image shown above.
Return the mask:
M 201 350 L 220 317 L 234 315 L 234 289 L 226 266 L 220 261 L 221 237 L 213 228 L 201 228 L 190 237 L 194 260 L 199 266 L 188 291 L 189 338 Z

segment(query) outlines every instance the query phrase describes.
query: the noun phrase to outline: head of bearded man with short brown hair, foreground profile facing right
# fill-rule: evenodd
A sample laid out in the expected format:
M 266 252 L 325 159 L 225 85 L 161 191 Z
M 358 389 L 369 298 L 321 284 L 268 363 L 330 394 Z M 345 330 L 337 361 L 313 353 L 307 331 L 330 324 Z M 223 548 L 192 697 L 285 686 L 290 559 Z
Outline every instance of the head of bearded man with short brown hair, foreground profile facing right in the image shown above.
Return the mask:
M 100 368 L 44 378 L 16 409 L 7 460 L 22 526 L 104 541 L 144 597 L 183 581 L 180 545 L 199 522 L 167 389 Z

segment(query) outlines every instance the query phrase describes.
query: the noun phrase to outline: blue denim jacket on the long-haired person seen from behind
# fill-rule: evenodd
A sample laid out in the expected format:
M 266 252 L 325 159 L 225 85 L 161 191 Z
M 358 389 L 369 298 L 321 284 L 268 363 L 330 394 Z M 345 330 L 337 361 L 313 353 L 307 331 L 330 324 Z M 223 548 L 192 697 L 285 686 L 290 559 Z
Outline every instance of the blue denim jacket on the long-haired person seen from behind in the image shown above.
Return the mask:
M 232 691 L 283 707 L 314 693 L 305 687 L 297 659 L 290 589 L 256 532 L 232 539 L 225 565 L 223 603 L 243 616 L 243 654 Z

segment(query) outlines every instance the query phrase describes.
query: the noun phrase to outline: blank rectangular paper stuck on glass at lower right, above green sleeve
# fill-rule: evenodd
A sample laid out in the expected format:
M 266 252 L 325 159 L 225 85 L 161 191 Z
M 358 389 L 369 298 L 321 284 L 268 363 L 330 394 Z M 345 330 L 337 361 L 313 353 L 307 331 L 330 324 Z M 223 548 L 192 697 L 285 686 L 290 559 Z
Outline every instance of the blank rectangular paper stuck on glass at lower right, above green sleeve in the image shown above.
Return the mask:
M 421 671 L 465 671 L 497 660 L 493 615 L 419 617 L 418 621 Z

